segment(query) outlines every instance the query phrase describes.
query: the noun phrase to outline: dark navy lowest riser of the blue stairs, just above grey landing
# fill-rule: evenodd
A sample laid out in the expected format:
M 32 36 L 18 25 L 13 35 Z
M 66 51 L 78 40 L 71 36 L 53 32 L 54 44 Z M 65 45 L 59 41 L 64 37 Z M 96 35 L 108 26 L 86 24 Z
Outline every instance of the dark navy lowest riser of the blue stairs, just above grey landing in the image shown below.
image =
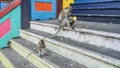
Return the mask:
M 73 15 L 76 16 L 76 15 Z M 112 18 L 112 17 L 99 17 L 99 16 L 77 16 L 78 20 L 80 21 L 89 21 L 89 22 L 97 22 L 97 23 L 113 23 L 113 24 L 120 24 L 119 18 Z

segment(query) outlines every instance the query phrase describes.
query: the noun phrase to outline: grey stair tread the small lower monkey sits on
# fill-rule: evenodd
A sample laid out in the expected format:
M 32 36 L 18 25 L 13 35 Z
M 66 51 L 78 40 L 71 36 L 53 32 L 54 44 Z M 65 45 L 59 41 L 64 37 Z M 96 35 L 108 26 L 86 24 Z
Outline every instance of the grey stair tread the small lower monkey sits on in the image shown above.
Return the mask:
M 13 40 L 15 42 L 23 45 L 24 47 L 28 48 L 29 50 L 32 50 L 32 52 L 34 54 L 37 54 L 37 52 L 34 51 L 36 44 L 34 44 L 30 41 L 27 41 L 23 38 L 17 38 L 17 39 L 13 39 Z M 47 50 L 47 55 L 48 56 L 44 56 L 42 59 L 50 61 L 50 62 L 56 64 L 57 66 L 59 66 L 60 68 L 86 68 L 85 66 L 78 64 L 77 62 L 74 62 L 68 58 L 65 58 L 61 55 L 51 52 L 50 50 Z

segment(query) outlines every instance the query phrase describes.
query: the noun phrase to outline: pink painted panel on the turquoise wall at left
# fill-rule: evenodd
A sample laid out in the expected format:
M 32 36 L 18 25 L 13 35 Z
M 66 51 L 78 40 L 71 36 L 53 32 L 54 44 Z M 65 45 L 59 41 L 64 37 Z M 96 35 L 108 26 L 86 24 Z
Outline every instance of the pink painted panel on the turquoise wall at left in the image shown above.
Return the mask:
M 0 39 L 11 30 L 10 18 L 0 24 Z

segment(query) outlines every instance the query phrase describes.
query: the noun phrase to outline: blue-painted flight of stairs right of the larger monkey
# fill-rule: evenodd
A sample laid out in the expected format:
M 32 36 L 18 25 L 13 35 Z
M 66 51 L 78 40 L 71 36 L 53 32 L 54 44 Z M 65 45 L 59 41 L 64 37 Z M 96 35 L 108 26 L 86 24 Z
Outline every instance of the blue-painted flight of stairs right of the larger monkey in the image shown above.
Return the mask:
M 99 0 L 100 1 L 100 0 Z M 120 24 L 120 1 L 76 3 L 71 5 L 72 15 L 78 20 Z

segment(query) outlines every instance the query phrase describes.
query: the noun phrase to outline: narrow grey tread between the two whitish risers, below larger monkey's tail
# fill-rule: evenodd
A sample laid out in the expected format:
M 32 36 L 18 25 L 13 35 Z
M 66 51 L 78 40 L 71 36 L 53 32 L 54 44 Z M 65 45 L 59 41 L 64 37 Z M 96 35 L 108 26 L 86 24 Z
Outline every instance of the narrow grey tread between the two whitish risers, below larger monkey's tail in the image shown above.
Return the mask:
M 37 31 L 37 30 L 32 30 L 32 29 L 27 29 L 25 31 L 28 31 L 28 32 L 31 32 L 31 33 L 34 33 L 36 35 L 40 35 L 40 36 L 43 36 L 43 37 L 52 36 L 49 33 L 41 32 L 41 31 Z M 84 48 L 84 49 L 87 49 L 87 50 L 90 50 L 90 51 L 93 51 L 93 52 L 97 52 L 97 53 L 100 53 L 100 54 L 103 54 L 103 55 L 106 55 L 106 56 L 109 56 L 109 57 L 120 60 L 120 52 L 109 49 L 109 48 L 99 47 L 99 46 L 90 45 L 90 44 L 84 44 L 84 43 L 80 43 L 80 42 L 71 40 L 69 38 L 58 37 L 58 36 L 56 36 L 54 38 L 50 38 L 50 39 L 66 43 L 66 44 L 69 44 L 70 46 L 74 46 L 74 47 L 77 47 L 77 48 Z

